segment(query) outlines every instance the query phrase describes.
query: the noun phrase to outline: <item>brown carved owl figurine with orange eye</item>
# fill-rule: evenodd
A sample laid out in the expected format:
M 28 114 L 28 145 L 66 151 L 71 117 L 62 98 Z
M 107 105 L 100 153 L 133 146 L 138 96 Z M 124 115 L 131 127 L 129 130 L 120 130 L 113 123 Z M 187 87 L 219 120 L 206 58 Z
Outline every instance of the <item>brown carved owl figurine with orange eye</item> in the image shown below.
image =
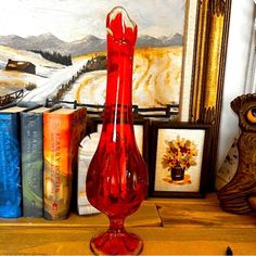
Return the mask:
M 234 214 L 256 212 L 256 93 L 231 102 L 239 116 L 239 165 L 234 177 L 218 191 L 223 210 Z

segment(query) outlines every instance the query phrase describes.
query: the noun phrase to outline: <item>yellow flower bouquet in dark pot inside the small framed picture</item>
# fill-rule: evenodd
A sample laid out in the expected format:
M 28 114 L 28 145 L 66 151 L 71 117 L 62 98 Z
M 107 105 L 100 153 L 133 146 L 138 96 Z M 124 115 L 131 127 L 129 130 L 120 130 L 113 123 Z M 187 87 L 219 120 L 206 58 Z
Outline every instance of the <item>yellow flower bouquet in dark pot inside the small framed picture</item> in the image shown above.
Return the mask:
M 174 184 L 191 183 L 190 175 L 187 172 L 190 166 L 196 165 L 199 153 L 194 141 L 184 138 L 180 139 L 177 136 L 176 140 L 166 140 L 165 142 L 167 148 L 162 157 L 162 166 L 167 168 L 169 174 L 164 178 L 164 181 Z

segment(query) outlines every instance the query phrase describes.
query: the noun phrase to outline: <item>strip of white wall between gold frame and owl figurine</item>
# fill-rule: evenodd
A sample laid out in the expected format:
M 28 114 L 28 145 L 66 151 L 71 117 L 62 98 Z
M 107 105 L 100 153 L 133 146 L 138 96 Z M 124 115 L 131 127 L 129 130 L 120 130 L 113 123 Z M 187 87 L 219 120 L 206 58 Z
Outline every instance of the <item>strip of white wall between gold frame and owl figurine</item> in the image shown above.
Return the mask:
M 217 168 L 222 165 L 239 133 L 238 116 L 230 102 L 245 92 L 247 67 L 254 30 L 254 0 L 232 0 Z M 247 92 L 247 90 L 246 90 Z

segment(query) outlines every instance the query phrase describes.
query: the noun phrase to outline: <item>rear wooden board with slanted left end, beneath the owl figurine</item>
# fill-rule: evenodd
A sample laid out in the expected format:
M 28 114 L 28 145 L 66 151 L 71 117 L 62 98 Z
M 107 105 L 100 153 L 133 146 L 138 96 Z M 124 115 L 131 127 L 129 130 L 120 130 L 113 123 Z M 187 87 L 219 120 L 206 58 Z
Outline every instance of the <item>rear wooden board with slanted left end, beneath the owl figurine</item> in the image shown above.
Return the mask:
M 219 207 L 215 194 L 208 195 L 206 200 L 169 200 L 156 202 L 156 205 L 164 227 L 256 228 L 255 214 L 226 213 Z

